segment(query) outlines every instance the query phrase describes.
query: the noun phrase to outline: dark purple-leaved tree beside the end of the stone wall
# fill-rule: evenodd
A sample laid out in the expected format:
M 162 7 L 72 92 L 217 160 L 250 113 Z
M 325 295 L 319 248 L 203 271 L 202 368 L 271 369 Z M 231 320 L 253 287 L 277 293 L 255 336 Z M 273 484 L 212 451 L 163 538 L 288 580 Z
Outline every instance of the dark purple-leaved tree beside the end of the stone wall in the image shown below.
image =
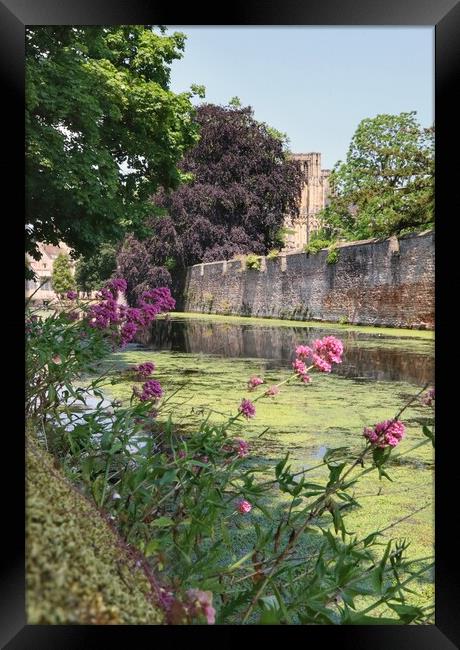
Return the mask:
M 283 138 L 258 122 L 250 107 L 203 104 L 195 119 L 200 139 L 180 163 L 191 181 L 155 194 L 153 206 L 163 215 L 149 221 L 154 235 L 144 241 L 129 237 L 118 255 L 131 288 L 145 276 L 143 265 L 158 276 L 159 269 L 265 254 L 282 245 L 286 215 L 298 215 L 300 166 L 289 160 Z

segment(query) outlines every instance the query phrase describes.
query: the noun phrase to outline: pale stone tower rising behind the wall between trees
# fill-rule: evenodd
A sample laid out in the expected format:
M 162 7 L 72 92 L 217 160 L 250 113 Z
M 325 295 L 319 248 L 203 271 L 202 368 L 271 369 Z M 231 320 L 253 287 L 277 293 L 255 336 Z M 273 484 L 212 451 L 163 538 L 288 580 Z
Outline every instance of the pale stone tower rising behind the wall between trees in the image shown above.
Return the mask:
M 318 230 L 319 223 L 316 215 L 322 210 L 328 200 L 329 169 L 321 169 L 320 153 L 295 153 L 292 160 L 299 160 L 302 167 L 302 192 L 300 198 L 300 216 L 293 223 L 286 218 L 284 225 L 292 234 L 286 236 L 285 251 L 301 250 L 308 244 L 312 232 Z

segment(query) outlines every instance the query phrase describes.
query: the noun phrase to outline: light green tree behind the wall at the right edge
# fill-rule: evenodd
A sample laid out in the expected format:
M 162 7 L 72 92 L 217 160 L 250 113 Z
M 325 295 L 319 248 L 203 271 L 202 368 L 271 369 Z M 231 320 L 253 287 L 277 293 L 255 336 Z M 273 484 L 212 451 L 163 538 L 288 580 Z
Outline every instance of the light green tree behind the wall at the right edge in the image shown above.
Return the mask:
M 332 238 L 363 239 L 429 227 L 434 222 L 434 127 L 415 111 L 360 122 L 345 163 L 330 176 L 330 203 L 320 213 Z

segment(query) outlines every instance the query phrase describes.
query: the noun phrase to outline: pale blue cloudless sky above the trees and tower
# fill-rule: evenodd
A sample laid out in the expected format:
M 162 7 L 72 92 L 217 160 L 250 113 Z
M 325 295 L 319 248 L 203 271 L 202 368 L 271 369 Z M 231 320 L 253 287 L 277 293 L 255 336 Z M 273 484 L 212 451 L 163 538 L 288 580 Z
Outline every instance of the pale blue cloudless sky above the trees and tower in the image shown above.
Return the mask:
M 432 27 L 193 27 L 171 88 L 206 86 L 206 101 L 235 95 L 256 119 L 287 133 L 294 152 L 343 160 L 359 122 L 417 111 L 434 120 Z M 201 101 L 201 100 L 200 100 Z

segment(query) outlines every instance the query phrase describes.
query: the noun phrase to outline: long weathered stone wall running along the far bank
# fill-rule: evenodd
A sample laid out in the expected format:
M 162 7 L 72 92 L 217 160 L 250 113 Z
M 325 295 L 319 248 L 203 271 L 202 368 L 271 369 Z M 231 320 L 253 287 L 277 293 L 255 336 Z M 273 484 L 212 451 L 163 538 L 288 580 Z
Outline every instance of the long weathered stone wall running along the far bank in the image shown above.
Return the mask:
M 340 245 L 328 251 L 196 264 L 187 271 L 184 308 L 191 312 L 388 327 L 434 327 L 434 231 L 399 240 Z

